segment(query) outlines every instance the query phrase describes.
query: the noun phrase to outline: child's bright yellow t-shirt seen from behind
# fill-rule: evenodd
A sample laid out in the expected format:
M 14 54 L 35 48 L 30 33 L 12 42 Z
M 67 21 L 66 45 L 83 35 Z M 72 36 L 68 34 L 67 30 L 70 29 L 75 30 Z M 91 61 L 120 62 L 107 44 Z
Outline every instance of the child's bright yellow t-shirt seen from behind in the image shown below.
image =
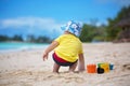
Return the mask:
M 55 54 L 66 61 L 74 62 L 78 59 L 78 55 L 82 54 L 82 43 L 73 34 L 63 34 L 55 41 L 60 43 L 54 49 Z

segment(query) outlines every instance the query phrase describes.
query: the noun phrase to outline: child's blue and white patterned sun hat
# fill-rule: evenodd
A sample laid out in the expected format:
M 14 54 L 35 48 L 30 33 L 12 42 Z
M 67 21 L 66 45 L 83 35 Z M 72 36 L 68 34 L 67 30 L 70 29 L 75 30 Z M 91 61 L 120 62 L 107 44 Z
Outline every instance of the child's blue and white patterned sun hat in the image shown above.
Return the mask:
M 79 37 L 81 32 L 81 24 L 70 20 L 65 26 L 62 26 L 61 29 Z

